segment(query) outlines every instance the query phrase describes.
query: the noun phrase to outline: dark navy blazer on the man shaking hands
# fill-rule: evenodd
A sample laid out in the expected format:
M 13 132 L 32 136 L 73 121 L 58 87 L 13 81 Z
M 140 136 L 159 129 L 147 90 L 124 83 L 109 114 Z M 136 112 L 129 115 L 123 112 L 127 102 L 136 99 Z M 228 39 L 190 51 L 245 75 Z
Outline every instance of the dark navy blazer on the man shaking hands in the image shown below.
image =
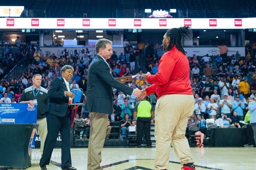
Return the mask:
M 88 68 L 86 110 L 112 114 L 112 99 L 114 97 L 112 87 L 128 95 L 133 92 L 133 88 L 114 79 L 107 63 L 101 56 L 97 55 Z

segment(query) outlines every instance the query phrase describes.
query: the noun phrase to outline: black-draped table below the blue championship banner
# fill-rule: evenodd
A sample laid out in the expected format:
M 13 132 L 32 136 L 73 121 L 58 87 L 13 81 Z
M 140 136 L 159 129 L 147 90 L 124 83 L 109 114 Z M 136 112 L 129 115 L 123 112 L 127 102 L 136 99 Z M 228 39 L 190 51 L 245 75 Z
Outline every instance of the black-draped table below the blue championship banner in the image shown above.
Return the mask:
M 39 124 L 0 124 L 0 166 L 31 167 L 29 142 Z

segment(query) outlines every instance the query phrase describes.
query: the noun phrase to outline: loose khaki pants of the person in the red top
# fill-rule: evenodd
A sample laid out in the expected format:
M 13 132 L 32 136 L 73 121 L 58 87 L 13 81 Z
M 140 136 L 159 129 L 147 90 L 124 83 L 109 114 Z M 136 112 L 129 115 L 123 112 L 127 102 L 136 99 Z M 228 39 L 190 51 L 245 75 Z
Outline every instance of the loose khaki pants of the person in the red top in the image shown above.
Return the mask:
M 187 122 L 194 112 L 193 95 L 163 95 L 156 103 L 156 170 L 168 168 L 171 144 L 181 165 L 194 163 L 185 137 Z

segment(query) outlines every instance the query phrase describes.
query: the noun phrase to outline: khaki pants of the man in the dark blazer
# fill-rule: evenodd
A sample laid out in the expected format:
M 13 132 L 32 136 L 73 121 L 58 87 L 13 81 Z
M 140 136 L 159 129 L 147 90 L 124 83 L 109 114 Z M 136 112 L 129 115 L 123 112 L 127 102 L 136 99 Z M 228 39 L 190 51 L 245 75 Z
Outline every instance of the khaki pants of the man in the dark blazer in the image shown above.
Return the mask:
M 107 132 L 108 114 L 90 112 L 90 138 L 88 145 L 87 170 L 102 170 L 100 167 L 101 151 Z

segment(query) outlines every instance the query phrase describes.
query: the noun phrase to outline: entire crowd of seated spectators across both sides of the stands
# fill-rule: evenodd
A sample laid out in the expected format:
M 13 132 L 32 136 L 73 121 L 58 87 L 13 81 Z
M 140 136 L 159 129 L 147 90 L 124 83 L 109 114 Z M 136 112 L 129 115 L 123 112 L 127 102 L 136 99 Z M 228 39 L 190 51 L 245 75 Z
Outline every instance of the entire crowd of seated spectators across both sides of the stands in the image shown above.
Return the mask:
M 246 50 L 248 47 L 246 48 Z M 145 68 L 151 74 L 157 73 L 158 62 L 161 58 L 163 46 L 159 44 L 153 45 L 143 42 L 136 46 L 131 46 L 127 40 L 124 41 L 124 53 L 113 54 L 107 60 L 111 68 L 114 78 L 128 75 L 137 75 L 131 82 L 126 83 L 133 88 L 144 89 L 150 84 L 143 80 L 143 67 L 139 60 L 145 62 Z M 250 51 L 246 51 L 250 54 Z M 87 71 L 94 55 L 86 50 L 81 53 L 69 55 L 64 49 L 60 56 L 55 54 L 42 54 L 38 44 L 28 46 L 23 40 L 17 51 L 10 51 L 8 46 L 2 51 L 0 63 L 6 70 L 10 70 L 13 66 L 24 59 L 24 65 L 27 68 L 22 74 L 7 82 L 3 77 L 3 70 L 0 68 L 0 103 L 15 103 L 19 100 L 21 93 L 27 87 L 32 85 L 32 77 L 34 74 L 42 75 L 41 86 L 49 89 L 50 82 L 55 77 L 61 77 L 61 68 L 64 65 L 74 67 L 74 76 L 69 82 L 71 89 L 82 90 L 86 95 Z M 254 99 L 256 94 L 256 71 L 255 58 L 249 55 L 241 57 L 238 51 L 232 56 L 188 56 L 190 64 L 190 83 L 192 92 L 195 97 L 195 115 L 191 117 L 191 124 L 196 124 L 200 129 L 207 127 L 206 120 L 214 116 L 215 119 L 223 119 L 227 116 L 230 118 L 229 124 L 234 124 L 240 128 L 237 121 L 243 121 L 248 110 L 248 97 Z M 145 72 L 145 70 L 144 70 Z M 135 96 L 126 95 L 123 92 L 115 90 L 113 100 L 114 116 L 110 116 L 111 121 L 121 121 L 125 119 L 125 115 L 129 115 L 129 119 L 133 117 L 133 108 L 140 99 Z M 156 104 L 156 94 L 148 97 L 151 104 Z M 81 100 L 83 101 L 83 100 Z M 80 117 L 88 118 L 85 107 L 81 109 Z M 235 114 L 234 114 L 235 112 Z M 224 115 L 224 116 L 223 116 Z M 111 119 L 113 117 L 113 120 Z M 233 117 L 233 118 L 232 118 Z M 127 118 L 126 118 L 127 119 Z M 194 121 L 195 120 L 195 121 Z

